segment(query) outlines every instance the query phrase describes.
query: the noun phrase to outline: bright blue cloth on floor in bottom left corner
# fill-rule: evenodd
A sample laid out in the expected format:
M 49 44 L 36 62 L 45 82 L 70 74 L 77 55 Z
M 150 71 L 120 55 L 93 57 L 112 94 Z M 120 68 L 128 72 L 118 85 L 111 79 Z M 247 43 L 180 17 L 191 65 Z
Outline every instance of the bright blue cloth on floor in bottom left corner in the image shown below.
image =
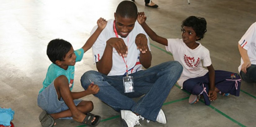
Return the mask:
M 0 125 L 11 126 L 14 111 L 11 108 L 0 108 Z

